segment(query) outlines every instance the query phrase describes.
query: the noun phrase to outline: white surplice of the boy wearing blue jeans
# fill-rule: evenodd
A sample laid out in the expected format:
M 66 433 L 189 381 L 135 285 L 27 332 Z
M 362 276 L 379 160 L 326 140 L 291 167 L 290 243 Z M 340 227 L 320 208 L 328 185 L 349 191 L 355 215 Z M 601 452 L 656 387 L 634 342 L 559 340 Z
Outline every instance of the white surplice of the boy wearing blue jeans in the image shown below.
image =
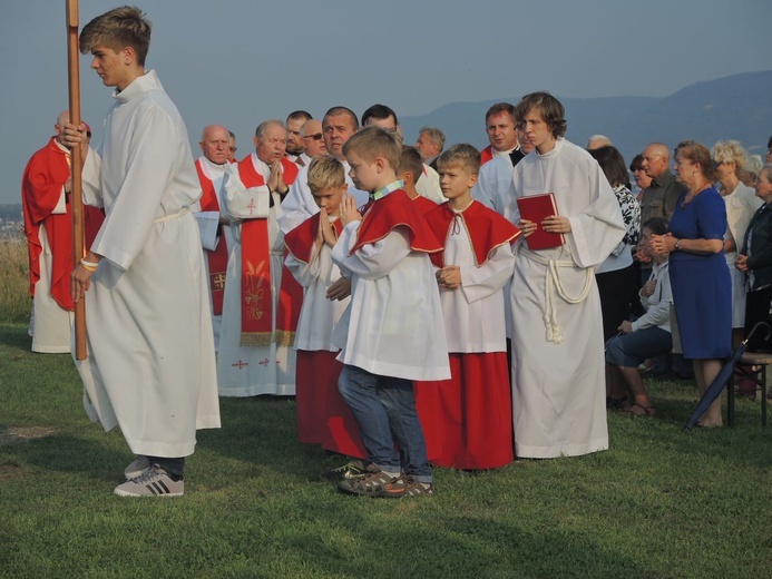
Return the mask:
M 349 223 L 332 249 L 333 263 L 351 278 L 351 303 L 332 335 L 342 350 L 338 359 L 381 376 L 449 379 L 442 307 L 429 255 L 410 249 L 401 226 L 349 255 L 361 223 Z

